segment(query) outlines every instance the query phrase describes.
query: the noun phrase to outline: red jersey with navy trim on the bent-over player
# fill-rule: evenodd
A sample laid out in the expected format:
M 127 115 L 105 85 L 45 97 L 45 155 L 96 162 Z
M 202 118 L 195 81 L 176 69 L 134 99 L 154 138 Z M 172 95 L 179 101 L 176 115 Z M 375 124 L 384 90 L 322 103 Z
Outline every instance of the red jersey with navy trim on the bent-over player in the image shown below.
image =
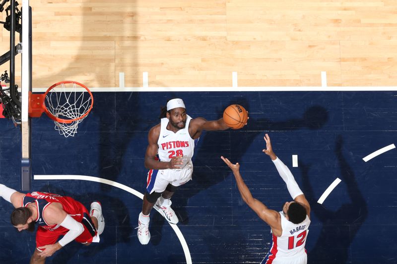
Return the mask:
M 63 210 L 66 211 L 77 222 L 81 222 L 83 218 L 84 206 L 71 197 L 61 196 L 52 193 L 32 192 L 27 193 L 22 200 L 22 207 L 34 203 L 37 207 L 37 219 L 35 220 L 39 226 L 48 230 L 54 230 L 59 227 L 57 224 L 49 225 L 44 217 L 43 212 L 51 203 L 62 204 Z

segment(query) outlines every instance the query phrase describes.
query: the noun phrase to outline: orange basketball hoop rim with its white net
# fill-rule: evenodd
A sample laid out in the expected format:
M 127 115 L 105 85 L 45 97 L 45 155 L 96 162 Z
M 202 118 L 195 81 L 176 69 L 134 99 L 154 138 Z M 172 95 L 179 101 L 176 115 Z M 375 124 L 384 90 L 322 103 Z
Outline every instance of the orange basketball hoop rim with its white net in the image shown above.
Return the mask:
M 91 110 L 92 95 L 87 90 L 74 82 L 65 82 L 48 91 L 46 107 L 56 117 L 55 130 L 61 135 L 73 137 L 78 124 Z

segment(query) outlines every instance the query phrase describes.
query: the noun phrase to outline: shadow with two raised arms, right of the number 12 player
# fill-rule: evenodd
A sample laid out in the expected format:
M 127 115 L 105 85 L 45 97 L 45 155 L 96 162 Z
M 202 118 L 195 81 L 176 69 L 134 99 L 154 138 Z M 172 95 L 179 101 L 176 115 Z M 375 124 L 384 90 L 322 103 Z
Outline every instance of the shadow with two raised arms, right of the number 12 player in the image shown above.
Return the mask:
M 301 161 L 299 164 L 304 193 L 310 202 L 312 215 L 316 214 L 323 224 L 317 243 L 308 253 L 308 263 L 346 263 L 349 260 L 350 244 L 368 215 L 367 204 L 357 186 L 354 172 L 343 157 L 342 144 L 343 140 L 339 135 L 335 142 L 335 154 L 340 166 L 342 184 L 346 185 L 351 202 L 342 205 L 337 211 L 328 210 L 317 203 L 309 180 L 310 166 Z M 308 239 L 311 239 L 310 235 Z

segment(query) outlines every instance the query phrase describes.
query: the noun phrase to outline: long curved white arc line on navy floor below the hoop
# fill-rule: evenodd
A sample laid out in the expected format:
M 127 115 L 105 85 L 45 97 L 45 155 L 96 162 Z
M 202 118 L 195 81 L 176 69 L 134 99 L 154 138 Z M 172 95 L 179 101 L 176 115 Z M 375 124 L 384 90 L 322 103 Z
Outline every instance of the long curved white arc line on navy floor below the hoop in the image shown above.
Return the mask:
M 108 184 L 110 186 L 117 187 L 119 189 L 125 190 L 136 197 L 143 199 L 143 194 L 140 192 L 115 181 L 107 180 L 107 179 L 102 179 L 99 177 L 92 177 L 92 176 L 85 176 L 85 175 L 34 175 L 33 179 L 35 180 L 83 180 L 83 181 L 95 181 L 99 183 L 104 183 Z M 156 209 L 156 208 L 155 208 Z M 158 211 L 158 210 L 157 210 Z M 174 229 L 175 234 L 178 236 L 179 241 L 181 242 L 183 252 L 185 253 L 185 258 L 186 258 L 186 264 L 192 264 L 192 257 L 190 256 L 190 251 L 188 244 L 186 243 L 185 238 L 183 237 L 183 234 L 179 227 L 176 224 L 170 224 L 169 225 Z

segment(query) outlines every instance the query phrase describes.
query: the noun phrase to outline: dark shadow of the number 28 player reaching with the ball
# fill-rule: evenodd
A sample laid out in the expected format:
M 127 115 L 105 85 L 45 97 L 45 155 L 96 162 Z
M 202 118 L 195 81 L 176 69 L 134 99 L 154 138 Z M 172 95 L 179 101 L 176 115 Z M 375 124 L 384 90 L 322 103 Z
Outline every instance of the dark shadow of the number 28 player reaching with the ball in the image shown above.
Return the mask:
M 230 102 L 231 104 L 240 104 L 247 106 L 249 111 L 249 104 L 246 100 L 238 102 Z M 219 109 L 219 116 L 221 110 Z M 287 119 L 280 122 L 272 122 L 269 119 L 250 118 L 248 125 L 241 130 L 226 130 L 217 132 L 205 132 L 200 137 L 199 148 L 195 150 L 193 158 L 194 172 L 193 181 L 181 186 L 181 190 L 174 195 L 180 201 L 175 203 L 175 208 L 178 208 L 176 213 L 182 223 L 189 222 L 189 216 L 185 209 L 188 200 L 197 195 L 202 190 L 216 185 L 217 183 L 226 180 L 231 174 L 230 170 L 219 169 L 224 167 L 220 156 L 232 157 L 233 162 L 238 162 L 247 152 L 247 149 L 253 143 L 254 139 L 259 134 L 264 134 L 265 131 L 291 131 L 308 128 L 310 130 L 321 129 L 328 121 L 328 110 L 323 106 L 311 106 L 303 114 L 302 118 Z M 260 126 L 259 124 L 262 124 Z M 245 130 L 245 131 L 244 131 Z M 247 131 L 249 130 L 249 131 Z M 243 133 L 241 133 L 243 131 Z M 236 140 L 233 140 L 236 138 Z M 229 140 L 229 142 L 227 142 Z M 261 149 L 262 150 L 262 149 Z M 262 155 L 260 149 L 258 153 Z

